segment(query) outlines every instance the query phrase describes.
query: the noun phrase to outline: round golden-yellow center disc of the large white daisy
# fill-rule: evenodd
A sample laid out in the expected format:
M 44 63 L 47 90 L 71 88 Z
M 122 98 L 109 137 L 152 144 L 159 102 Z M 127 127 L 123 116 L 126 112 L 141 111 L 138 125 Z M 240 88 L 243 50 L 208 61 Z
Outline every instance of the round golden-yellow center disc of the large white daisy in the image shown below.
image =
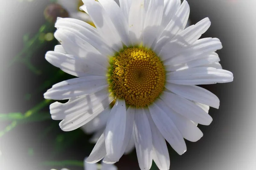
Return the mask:
M 145 48 L 125 48 L 111 58 L 109 83 L 117 98 L 145 107 L 163 91 L 165 70 L 157 55 Z

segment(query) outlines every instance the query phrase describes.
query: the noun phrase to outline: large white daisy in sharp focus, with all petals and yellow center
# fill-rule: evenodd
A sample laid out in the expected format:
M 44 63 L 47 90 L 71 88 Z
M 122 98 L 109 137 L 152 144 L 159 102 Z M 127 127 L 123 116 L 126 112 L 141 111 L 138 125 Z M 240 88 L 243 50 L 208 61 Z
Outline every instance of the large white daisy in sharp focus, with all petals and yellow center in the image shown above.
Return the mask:
M 119 161 L 134 140 L 140 169 L 149 170 L 152 159 L 160 170 L 169 169 L 165 140 L 183 154 L 183 138 L 200 139 L 196 125 L 209 125 L 209 106 L 219 107 L 218 97 L 197 85 L 233 81 L 215 53 L 222 48 L 220 40 L 199 39 L 210 26 L 208 18 L 184 29 L 186 0 L 83 2 L 81 9 L 96 28 L 58 19 L 55 37 L 61 45 L 46 54 L 52 65 L 78 77 L 44 94 L 69 99 L 50 105 L 52 119 L 62 120 L 61 129 L 70 131 L 109 114 L 87 162 Z

